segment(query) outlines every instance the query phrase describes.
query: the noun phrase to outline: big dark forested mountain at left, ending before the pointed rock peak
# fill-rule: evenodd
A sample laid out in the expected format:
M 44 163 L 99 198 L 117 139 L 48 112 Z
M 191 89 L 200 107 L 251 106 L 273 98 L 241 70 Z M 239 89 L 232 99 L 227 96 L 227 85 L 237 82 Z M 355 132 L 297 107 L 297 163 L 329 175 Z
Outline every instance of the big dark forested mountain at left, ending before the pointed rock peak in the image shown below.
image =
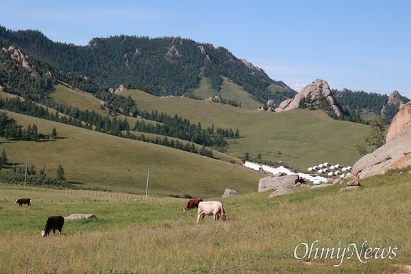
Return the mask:
M 0 38 L 62 71 L 112 88 L 123 84 L 153 95 L 183 95 L 197 88 L 203 75 L 211 79 L 215 90 L 221 87 L 221 77 L 227 77 L 262 103 L 275 99 L 271 85 L 295 95 L 284 82 L 270 79 L 227 49 L 179 37 L 112 36 L 93 38 L 88 46 L 80 47 L 53 42 L 39 31 L 12 32 L 0 27 Z

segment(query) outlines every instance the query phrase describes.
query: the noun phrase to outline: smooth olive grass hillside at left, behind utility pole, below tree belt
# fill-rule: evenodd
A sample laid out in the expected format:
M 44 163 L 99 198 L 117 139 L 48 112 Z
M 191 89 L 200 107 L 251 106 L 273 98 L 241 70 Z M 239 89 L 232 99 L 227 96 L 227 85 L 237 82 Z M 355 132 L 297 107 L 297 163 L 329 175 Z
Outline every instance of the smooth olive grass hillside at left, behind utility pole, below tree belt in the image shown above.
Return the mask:
M 36 124 L 38 132 L 44 134 L 50 134 L 55 127 L 60 137 L 49 142 L 3 141 L 0 149 L 5 149 L 8 162 L 32 163 L 37 171 L 46 166 L 49 177 L 55 177 L 58 164 L 62 164 L 67 181 L 82 182 L 89 188 L 144 193 L 150 169 L 151 195 L 216 197 L 223 195 L 225 188 L 242 193 L 256 191 L 263 176 L 229 164 L 234 158 L 217 152 L 214 157 L 220 160 L 13 112 L 8 114 L 25 127 Z

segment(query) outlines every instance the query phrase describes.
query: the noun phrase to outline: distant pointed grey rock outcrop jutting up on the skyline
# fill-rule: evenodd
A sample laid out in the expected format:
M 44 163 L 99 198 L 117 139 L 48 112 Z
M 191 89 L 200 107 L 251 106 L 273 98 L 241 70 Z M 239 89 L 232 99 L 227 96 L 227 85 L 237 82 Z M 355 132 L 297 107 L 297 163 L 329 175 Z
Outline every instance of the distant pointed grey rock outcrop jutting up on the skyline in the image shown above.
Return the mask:
M 294 99 L 287 99 L 279 104 L 279 107 L 275 109 L 275 112 L 283 112 L 287 110 L 293 110 L 299 108 L 299 103 L 302 99 L 306 101 L 313 101 L 316 104 L 319 103 L 321 95 L 327 98 L 329 105 L 337 116 L 341 115 L 340 109 L 335 104 L 334 97 L 332 97 L 331 90 L 327 81 L 322 79 L 316 79 L 312 84 L 305 86 L 301 91 L 295 95 Z

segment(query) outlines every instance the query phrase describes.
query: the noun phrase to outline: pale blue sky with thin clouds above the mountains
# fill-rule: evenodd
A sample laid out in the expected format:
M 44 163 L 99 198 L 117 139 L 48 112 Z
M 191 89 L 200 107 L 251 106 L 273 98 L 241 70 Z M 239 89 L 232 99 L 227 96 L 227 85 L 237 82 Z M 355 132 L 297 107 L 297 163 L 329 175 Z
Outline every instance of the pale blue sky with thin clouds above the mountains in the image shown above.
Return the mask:
M 324 79 L 411 99 L 411 0 L 0 0 L 0 25 L 74 45 L 178 36 L 225 47 L 297 92 Z

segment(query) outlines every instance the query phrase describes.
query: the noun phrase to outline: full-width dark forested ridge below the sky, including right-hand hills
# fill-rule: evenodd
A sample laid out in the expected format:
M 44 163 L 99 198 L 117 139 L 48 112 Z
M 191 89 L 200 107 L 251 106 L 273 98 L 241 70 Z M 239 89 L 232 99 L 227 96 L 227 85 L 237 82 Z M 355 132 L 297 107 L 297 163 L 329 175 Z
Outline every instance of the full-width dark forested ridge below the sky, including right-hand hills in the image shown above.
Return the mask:
M 401 103 L 409 101 L 399 94 L 397 99 L 390 99 L 388 95 L 344 88 L 331 89 L 331 94 L 326 96 L 328 103 L 312 105 L 310 101 L 316 99 L 309 98 L 308 103 L 298 106 L 303 99 L 301 94 L 284 82 L 271 79 L 258 66 L 236 58 L 224 47 L 180 37 L 118 35 L 92 38 L 86 46 L 75 46 L 53 42 L 38 30 L 13 32 L 0 26 L 0 38 L 3 45 L 18 46 L 18 51 L 26 51 L 60 71 L 91 79 L 110 90 L 137 88 L 156 96 L 190 96 L 201 79 L 207 77 L 210 89 L 215 90 L 208 93 L 215 96 L 221 91 L 223 78 L 227 78 L 264 105 L 260 109 L 273 111 L 277 107 L 275 111 L 279 112 L 286 108 L 323 108 L 334 119 L 360 123 L 381 114 L 387 117 L 386 123 L 390 123 Z M 84 82 L 84 79 L 75 81 Z

